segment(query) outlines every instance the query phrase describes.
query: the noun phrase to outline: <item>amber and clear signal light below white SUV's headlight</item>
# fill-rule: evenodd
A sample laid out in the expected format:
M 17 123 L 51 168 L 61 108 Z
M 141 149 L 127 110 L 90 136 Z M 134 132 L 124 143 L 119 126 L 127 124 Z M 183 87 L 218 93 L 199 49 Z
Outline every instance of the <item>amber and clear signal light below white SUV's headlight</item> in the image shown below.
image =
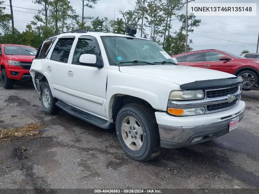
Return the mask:
M 176 109 L 176 108 L 167 108 L 167 112 L 171 115 L 176 116 L 191 116 L 191 115 L 201 115 L 204 114 L 205 108 L 183 108 L 183 109 Z

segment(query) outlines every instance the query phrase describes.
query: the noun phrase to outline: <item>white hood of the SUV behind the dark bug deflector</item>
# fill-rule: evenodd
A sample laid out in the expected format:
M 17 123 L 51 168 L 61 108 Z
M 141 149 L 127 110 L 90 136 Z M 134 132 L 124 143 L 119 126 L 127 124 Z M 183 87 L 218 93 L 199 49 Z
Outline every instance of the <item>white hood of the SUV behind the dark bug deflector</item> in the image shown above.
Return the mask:
M 236 77 L 222 71 L 184 65 L 139 65 L 120 67 L 120 72 L 185 84 L 200 80 Z

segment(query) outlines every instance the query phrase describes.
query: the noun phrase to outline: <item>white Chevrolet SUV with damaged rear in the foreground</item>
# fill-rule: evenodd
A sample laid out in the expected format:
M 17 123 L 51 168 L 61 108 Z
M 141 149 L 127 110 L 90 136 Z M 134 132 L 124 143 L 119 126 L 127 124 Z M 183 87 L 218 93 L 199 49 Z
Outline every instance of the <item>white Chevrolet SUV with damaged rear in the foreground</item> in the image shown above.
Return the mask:
M 244 116 L 242 78 L 177 65 L 155 42 L 75 31 L 45 40 L 30 74 L 45 112 L 60 109 L 105 129 L 116 127 L 128 156 L 156 157 L 227 134 Z

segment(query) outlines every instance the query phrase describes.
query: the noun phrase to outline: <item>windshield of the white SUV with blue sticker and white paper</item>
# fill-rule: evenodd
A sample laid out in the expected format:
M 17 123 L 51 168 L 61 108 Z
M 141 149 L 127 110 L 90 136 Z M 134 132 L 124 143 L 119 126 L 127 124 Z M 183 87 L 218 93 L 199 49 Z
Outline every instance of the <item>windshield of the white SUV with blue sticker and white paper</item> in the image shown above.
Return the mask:
M 118 36 L 116 38 L 103 36 L 102 39 L 111 65 L 147 65 L 146 62 L 155 63 L 155 65 L 162 64 L 161 62 L 175 63 L 166 51 L 151 40 Z

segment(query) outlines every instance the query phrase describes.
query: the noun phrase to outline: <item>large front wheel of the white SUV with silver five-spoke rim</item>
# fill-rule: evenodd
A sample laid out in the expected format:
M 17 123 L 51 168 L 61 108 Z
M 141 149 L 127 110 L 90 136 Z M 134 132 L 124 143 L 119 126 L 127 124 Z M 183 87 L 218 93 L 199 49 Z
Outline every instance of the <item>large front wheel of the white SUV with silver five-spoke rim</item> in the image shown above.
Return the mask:
M 131 103 L 123 106 L 116 118 L 117 138 L 129 157 L 148 161 L 160 153 L 160 137 L 154 110 Z

